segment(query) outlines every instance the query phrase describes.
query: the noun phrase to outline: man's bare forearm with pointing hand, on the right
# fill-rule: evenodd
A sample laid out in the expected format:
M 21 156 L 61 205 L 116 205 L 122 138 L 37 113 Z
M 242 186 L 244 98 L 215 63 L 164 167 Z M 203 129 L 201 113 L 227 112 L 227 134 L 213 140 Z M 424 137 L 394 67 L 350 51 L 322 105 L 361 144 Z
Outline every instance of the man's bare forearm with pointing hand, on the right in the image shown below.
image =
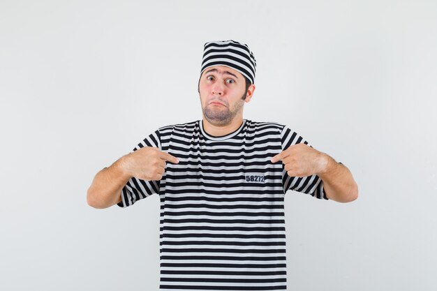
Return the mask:
M 272 162 L 276 161 L 282 161 L 290 177 L 317 174 L 328 199 L 350 202 L 358 197 L 358 186 L 348 167 L 309 145 L 294 144 L 274 156 Z

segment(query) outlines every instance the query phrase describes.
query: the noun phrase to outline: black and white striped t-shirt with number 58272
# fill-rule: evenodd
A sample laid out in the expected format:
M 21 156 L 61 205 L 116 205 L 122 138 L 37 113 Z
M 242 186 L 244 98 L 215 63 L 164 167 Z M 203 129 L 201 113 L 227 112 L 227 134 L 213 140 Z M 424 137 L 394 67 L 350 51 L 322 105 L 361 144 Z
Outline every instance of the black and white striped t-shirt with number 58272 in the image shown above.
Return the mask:
M 179 158 L 160 181 L 130 179 L 118 204 L 160 197 L 160 290 L 286 290 L 284 195 L 327 200 L 320 177 L 289 177 L 281 161 L 270 161 L 302 142 L 274 122 L 244 119 L 214 137 L 198 120 L 163 126 L 133 149 Z

